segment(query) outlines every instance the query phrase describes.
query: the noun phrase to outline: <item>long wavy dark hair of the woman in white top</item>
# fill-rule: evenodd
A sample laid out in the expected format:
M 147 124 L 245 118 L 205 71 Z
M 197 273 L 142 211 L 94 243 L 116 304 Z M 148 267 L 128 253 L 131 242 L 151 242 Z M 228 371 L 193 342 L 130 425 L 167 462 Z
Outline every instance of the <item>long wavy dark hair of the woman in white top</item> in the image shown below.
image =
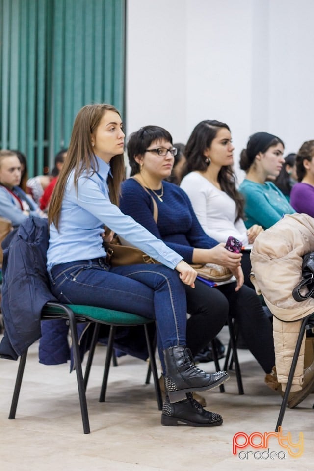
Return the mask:
M 205 172 L 210 165 L 204 152 L 211 146 L 213 139 L 221 128 L 230 131 L 226 123 L 216 120 L 204 120 L 195 126 L 185 146 L 186 163 L 183 167 L 183 177 L 190 172 Z M 218 173 L 218 183 L 222 191 L 227 193 L 235 202 L 236 220 L 244 218 L 244 199 L 236 189 L 236 175 L 231 165 L 221 167 Z

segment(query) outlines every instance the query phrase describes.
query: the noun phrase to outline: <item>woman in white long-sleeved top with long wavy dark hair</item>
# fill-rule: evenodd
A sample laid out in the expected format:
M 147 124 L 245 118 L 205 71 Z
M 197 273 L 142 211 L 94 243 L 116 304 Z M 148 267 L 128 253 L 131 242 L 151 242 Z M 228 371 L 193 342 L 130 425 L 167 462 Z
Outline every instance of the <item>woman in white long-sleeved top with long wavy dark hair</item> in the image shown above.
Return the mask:
M 232 235 L 247 247 L 253 244 L 263 229 L 257 224 L 250 229 L 245 227 L 244 201 L 236 189 L 236 176 L 232 167 L 233 151 L 227 124 L 215 120 L 201 121 L 186 144 L 185 176 L 181 187 L 187 193 L 207 235 L 219 242 L 226 242 Z M 252 288 L 249 250 L 243 251 L 241 265 L 244 282 Z

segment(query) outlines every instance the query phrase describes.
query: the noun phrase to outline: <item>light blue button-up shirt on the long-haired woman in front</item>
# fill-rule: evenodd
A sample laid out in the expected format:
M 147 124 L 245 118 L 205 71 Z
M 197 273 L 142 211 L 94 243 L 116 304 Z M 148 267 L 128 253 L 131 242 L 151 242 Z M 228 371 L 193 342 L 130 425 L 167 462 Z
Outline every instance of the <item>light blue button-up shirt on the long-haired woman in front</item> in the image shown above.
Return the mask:
M 103 226 L 123 237 L 158 262 L 174 269 L 183 260 L 130 216 L 123 214 L 109 199 L 107 177 L 110 166 L 97 157 L 99 170 L 84 171 L 74 187 L 74 171 L 68 178 L 63 196 L 59 231 L 50 225 L 48 270 L 59 263 L 104 257 Z

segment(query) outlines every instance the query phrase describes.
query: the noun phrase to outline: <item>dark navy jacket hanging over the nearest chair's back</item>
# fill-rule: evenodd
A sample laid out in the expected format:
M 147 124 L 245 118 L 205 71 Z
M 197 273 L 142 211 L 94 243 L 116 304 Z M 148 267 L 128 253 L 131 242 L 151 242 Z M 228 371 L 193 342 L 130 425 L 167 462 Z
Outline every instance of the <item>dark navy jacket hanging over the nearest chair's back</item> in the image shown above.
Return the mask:
M 2 243 L 2 302 L 5 336 L 1 357 L 16 359 L 41 336 L 40 316 L 48 301 L 56 301 L 46 272 L 48 223 L 27 218 Z

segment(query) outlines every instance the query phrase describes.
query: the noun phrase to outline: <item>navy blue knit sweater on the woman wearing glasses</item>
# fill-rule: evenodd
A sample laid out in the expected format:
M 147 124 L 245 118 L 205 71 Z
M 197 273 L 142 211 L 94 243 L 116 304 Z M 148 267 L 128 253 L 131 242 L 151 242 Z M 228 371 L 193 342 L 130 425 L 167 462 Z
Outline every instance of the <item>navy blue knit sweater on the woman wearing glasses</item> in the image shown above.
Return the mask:
M 163 202 L 148 190 L 157 203 L 157 224 L 152 197 L 133 178 L 122 183 L 120 209 L 192 263 L 194 248 L 211 249 L 218 242 L 203 231 L 186 193 L 174 183 L 162 184 Z

